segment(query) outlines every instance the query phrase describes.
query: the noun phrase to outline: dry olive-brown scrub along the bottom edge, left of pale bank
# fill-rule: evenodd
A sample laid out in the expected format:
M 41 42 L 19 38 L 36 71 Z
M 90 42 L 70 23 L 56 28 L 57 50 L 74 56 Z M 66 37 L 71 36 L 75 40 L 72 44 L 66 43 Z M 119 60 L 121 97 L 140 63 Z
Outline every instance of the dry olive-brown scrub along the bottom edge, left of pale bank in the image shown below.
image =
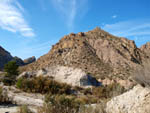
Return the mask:
M 91 105 L 76 96 L 47 95 L 38 113 L 106 113 L 106 103 L 101 101 Z

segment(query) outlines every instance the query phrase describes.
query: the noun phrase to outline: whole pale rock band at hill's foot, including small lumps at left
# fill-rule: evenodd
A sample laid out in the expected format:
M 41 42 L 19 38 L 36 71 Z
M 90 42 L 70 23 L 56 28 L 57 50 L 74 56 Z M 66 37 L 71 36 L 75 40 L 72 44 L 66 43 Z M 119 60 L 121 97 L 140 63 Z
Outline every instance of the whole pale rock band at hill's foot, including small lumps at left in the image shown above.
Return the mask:
M 72 68 L 67 66 L 52 66 L 46 69 L 41 69 L 36 72 L 23 72 L 20 77 L 31 78 L 31 77 L 52 77 L 54 80 L 62 83 L 67 83 L 72 86 L 90 87 L 100 86 L 98 82 L 90 74 L 85 73 L 79 68 Z

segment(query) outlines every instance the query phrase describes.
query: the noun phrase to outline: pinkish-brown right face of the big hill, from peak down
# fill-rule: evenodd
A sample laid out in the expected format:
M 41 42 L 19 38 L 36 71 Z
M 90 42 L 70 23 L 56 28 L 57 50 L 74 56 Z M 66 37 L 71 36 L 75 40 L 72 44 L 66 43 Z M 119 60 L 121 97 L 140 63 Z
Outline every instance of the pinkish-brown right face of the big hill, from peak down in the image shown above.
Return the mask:
M 116 75 L 142 64 L 144 55 L 134 41 L 113 36 L 98 28 L 87 32 L 86 36 L 99 59 L 111 65 Z

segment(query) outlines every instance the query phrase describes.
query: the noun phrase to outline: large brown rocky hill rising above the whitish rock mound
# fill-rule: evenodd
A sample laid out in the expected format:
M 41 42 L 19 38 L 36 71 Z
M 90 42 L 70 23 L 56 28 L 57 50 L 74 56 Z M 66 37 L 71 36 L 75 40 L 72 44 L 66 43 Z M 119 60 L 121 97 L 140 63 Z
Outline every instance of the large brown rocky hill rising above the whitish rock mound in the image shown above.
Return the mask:
M 100 28 L 85 33 L 64 36 L 52 49 L 24 71 L 40 70 L 51 66 L 80 68 L 97 78 L 127 77 L 147 59 L 134 41 L 113 36 Z M 124 76 L 126 75 L 126 76 Z

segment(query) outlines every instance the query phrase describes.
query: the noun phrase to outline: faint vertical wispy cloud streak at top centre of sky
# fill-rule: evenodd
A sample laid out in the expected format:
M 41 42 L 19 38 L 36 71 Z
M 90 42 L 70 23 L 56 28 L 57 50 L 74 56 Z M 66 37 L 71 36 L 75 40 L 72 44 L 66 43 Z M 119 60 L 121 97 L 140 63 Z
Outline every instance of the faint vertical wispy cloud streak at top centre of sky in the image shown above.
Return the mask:
M 52 0 L 52 2 L 54 7 L 65 17 L 67 26 L 72 28 L 76 16 L 86 10 L 88 0 Z

